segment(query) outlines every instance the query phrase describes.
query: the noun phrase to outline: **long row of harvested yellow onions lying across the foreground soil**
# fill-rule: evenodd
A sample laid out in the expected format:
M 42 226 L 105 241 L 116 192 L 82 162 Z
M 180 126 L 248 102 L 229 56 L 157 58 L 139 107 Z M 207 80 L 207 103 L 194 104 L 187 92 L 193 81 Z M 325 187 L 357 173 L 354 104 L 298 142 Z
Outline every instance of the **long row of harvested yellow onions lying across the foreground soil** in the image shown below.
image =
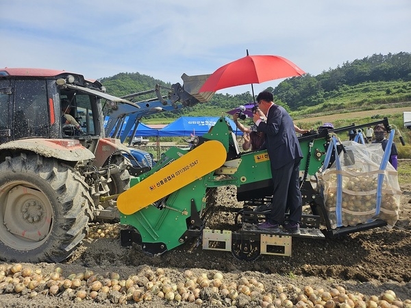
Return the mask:
M 116 272 L 99 274 L 92 270 L 68 273 L 61 268 L 42 273 L 40 268 L 23 264 L 0 265 L 0 294 L 60 296 L 75 303 L 95 300 L 104 303 L 125 304 L 150 302 L 153 299 L 169 303 L 195 303 L 197 305 L 238 307 L 286 308 L 411 308 L 411 299 L 401 300 L 395 292 L 364 296 L 348 292 L 343 286 L 330 290 L 306 285 L 302 289 L 292 285 L 274 283 L 270 290 L 257 277 L 239 275 L 238 279 L 225 279 L 222 272 L 204 271 L 195 274 L 184 270 L 167 276 L 168 269 L 140 268 L 136 274 L 121 277 Z

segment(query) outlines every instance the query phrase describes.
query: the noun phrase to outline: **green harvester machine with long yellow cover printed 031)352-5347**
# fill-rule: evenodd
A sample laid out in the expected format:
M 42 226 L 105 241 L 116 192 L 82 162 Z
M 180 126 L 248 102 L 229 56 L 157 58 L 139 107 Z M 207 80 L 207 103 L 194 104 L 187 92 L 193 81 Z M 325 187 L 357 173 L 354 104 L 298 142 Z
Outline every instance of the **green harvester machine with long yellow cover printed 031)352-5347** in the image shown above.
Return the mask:
M 290 234 L 256 228 L 267 214 L 256 208 L 272 201 L 269 157 L 265 150 L 240 152 L 226 118 L 219 118 L 208 133 L 195 138 L 190 149 L 169 149 L 149 172 L 132 179 L 132 187 L 117 201 L 121 223 L 133 227 L 122 231 L 121 242 L 137 242 L 146 253 L 161 255 L 197 239 L 203 249 L 231 251 L 234 257 L 251 261 L 262 254 L 291 255 L 294 237 L 334 238 L 386 226 L 386 220 L 375 216 L 356 225 L 335 227 L 316 179 L 316 174 L 332 166 L 336 157 L 350 155 L 343 142 L 330 146 L 333 139 L 339 140 L 338 134 L 347 135 L 351 129 L 379 123 L 393 136 L 394 131 L 384 118 L 364 125 L 319 129 L 299 137 L 304 155 L 300 180 L 305 210 L 300 233 Z M 327 166 L 323 166 L 325 161 Z M 227 185 L 236 186 L 237 200 L 244 201 L 243 207 L 211 204 L 216 188 Z M 227 216 L 233 217 L 227 221 L 229 227 L 210 229 L 208 221 L 214 215 L 222 215 L 222 211 L 232 213 Z

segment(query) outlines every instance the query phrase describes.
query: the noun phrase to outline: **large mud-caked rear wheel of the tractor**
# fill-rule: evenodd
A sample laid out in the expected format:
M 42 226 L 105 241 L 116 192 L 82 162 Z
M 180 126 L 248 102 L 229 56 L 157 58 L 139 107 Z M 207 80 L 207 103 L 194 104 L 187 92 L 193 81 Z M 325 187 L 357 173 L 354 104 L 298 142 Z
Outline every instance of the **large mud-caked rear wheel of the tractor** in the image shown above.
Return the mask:
M 0 259 L 60 262 L 92 216 L 86 184 L 57 159 L 22 153 L 0 164 Z

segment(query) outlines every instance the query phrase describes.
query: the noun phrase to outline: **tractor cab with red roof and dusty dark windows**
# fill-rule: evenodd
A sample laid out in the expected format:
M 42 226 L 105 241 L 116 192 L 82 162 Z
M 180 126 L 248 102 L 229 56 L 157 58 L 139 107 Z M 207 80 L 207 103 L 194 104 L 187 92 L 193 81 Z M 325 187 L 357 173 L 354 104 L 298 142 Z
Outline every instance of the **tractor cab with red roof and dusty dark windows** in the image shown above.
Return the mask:
M 104 138 L 100 100 L 128 102 L 104 91 L 99 81 L 64 70 L 0 69 L 0 142 Z M 62 102 L 66 105 L 62 106 Z M 62 120 L 68 109 L 71 123 Z

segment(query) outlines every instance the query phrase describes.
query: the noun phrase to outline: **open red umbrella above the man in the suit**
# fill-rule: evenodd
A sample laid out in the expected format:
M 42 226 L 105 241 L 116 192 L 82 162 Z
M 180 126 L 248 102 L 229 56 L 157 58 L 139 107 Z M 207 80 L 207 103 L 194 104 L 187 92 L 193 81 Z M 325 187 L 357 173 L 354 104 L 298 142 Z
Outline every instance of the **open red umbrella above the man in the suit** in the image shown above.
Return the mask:
M 279 55 L 247 55 L 217 69 L 208 77 L 199 92 L 216 92 L 245 84 L 261 84 L 264 81 L 301 76 L 305 73 L 290 60 Z

